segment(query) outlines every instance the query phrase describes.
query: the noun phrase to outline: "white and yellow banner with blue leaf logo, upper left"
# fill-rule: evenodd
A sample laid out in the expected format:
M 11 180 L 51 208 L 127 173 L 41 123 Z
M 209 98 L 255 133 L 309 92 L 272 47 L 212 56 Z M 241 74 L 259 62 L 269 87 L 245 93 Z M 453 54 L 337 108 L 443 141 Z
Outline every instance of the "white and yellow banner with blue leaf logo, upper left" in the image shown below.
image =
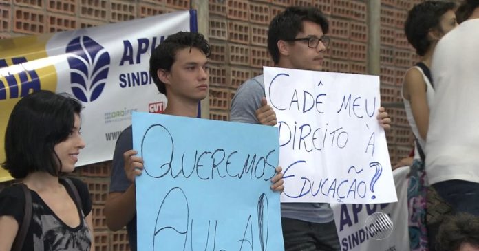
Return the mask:
M 132 111 L 161 112 L 166 98 L 149 76 L 151 51 L 169 34 L 189 31 L 190 11 L 55 34 L 0 40 L 0 142 L 19 98 L 39 89 L 83 102 L 87 147 L 78 166 L 111 160 Z M 3 146 L 0 162 L 5 159 Z M 0 182 L 9 179 L 0 170 Z

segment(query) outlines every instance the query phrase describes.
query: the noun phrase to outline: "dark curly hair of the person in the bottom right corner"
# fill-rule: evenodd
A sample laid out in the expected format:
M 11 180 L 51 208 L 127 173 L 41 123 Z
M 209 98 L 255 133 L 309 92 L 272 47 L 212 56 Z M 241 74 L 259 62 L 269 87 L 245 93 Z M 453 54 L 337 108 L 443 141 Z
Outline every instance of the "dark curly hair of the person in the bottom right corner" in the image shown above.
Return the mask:
M 464 243 L 479 248 L 479 217 L 461 213 L 445 219 L 436 240 L 438 251 L 457 251 Z

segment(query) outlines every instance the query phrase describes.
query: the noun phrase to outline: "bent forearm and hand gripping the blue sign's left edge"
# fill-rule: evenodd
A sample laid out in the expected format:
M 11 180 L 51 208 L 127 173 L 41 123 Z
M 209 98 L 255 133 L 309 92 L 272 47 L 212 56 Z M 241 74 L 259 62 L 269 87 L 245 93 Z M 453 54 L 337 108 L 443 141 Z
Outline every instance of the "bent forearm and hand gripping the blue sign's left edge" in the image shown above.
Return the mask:
M 136 151 L 129 150 L 123 153 L 125 175 L 130 186 L 123 193 L 111 192 L 105 203 L 105 217 L 110 230 L 117 231 L 127 225 L 136 214 L 135 177 L 141 175 L 143 160 L 136 156 Z

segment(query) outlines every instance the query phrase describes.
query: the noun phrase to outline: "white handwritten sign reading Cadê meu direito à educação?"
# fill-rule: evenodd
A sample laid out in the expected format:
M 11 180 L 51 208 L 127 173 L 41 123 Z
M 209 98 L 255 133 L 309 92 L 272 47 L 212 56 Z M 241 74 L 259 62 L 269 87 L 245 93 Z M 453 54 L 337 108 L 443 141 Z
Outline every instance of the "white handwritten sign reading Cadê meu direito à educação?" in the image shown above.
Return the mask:
M 278 118 L 284 202 L 397 201 L 379 77 L 264 67 Z

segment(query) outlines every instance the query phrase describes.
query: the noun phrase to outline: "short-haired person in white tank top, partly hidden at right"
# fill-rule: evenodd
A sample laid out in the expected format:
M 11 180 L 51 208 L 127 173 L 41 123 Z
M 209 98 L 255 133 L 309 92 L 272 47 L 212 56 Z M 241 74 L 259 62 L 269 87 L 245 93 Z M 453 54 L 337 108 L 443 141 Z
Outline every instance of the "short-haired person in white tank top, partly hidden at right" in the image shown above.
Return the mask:
M 407 70 L 402 89 L 407 120 L 416 138 L 407 190 L 411 250 L 428 250 L 424 149 L 429 126 L 429 105 L 434 98 L 434 84 L 429 67 L 439 39 L 457 25 L 454 8 L 452 2 L 424 1 L 409 10 L 405 21 L 407 41 L 421 56 L 421 62 Z M 429 242 L 432 241 L 434 240 L 429 239 Z M 430 245 L 429 250 L 434 250 L 434 245 Z

